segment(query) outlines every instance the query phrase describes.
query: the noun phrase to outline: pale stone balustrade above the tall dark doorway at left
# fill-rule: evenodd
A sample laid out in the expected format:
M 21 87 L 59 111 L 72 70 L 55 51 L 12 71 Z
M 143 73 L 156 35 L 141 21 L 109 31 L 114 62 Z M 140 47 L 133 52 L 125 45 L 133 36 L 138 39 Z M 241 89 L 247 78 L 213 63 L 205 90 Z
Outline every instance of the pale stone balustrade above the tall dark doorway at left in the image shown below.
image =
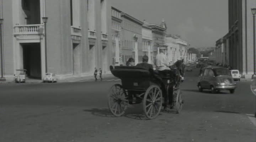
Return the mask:
M 44 34 L 43 24 L 15 25 L 14 34 Z

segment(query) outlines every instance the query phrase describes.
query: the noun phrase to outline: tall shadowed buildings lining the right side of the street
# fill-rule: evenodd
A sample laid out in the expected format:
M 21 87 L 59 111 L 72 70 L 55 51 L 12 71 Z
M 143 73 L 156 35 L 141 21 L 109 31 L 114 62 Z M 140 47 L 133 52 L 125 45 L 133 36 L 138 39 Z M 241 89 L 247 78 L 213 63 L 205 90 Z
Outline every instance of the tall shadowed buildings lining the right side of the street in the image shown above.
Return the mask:
M 216 41 L 216 48 L 211 54 L 216 62 L 238 69 L 242 76 L 251 78 L 254 74 L 254 39 L 252 8 L 255 0 L 228 1 L 229 29 Z

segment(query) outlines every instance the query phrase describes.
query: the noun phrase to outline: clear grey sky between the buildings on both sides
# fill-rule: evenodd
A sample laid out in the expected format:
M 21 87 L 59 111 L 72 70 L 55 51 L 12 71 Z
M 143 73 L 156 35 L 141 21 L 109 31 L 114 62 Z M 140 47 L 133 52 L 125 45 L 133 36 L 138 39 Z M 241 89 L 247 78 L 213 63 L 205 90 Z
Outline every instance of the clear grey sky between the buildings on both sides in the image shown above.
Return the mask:
M 191 47 L 215 47 L 228 33 L 228 0 L 109 0 L 111 6 L 140 21 L 160 24 Z

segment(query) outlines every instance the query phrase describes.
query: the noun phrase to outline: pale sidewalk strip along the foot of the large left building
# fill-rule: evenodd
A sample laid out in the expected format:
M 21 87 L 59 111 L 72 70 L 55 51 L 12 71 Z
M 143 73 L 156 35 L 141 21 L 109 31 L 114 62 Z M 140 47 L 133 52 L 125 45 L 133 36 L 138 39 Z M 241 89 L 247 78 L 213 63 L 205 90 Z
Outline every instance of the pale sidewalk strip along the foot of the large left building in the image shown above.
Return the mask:
M 97 76 L 99 78 L 99 76 Z M 103 79 L 106 78 L 116 78 L 112 74 L 105 74 L 102 75 Z M 74 78 L 67 78 L 63 80 L 58 80 L 58 82 L 80 82 L 80 81 L 88 81 L 88 80 L 95 80 L 94 76 L 85 76 L 85 77 L 74 77 Z M 26 83 L 42 83 L 42 80 L 27 78 Z M 13 78 L 6 78 L 6 81 L 0 81 L 1 83 L 15 83 Z

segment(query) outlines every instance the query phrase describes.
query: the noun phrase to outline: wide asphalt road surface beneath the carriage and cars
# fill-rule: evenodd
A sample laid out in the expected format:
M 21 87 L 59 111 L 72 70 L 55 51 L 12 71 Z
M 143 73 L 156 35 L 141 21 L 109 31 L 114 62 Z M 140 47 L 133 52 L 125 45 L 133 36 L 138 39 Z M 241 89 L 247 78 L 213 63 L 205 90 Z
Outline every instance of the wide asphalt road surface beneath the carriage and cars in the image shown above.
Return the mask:
M 125 116 L 107 109 L 102 82 L 0 85 L 0 142 L 255 142 L 255 96 L 250 82 L 234 94 L 198 92 L 198 68 L 186 72 L 180 114 L 161 112 L 145 120 L 142 105 Z

